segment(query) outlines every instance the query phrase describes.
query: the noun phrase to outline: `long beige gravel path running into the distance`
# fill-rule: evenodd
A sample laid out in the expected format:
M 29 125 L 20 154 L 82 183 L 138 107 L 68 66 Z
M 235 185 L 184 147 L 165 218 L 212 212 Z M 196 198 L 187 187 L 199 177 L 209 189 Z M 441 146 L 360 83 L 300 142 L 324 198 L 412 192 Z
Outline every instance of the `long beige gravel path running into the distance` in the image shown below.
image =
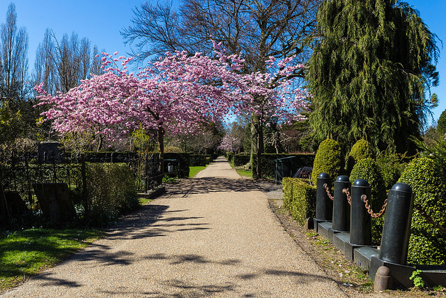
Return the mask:
M 346 297 L 220 157 L 5 297 Z

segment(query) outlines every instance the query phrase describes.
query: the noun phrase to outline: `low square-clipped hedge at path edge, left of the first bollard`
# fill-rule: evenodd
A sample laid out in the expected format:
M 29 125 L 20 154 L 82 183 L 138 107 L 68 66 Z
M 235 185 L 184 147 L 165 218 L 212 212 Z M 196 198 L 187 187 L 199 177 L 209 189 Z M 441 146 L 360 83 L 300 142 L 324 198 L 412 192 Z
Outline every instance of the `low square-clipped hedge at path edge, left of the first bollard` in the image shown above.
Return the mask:
M 284 189 L 284 207 L 291 216 L 304 225 L 307 218 L 316 216 L 316 187 L 309 185 L 307 179 L 282 179 Z

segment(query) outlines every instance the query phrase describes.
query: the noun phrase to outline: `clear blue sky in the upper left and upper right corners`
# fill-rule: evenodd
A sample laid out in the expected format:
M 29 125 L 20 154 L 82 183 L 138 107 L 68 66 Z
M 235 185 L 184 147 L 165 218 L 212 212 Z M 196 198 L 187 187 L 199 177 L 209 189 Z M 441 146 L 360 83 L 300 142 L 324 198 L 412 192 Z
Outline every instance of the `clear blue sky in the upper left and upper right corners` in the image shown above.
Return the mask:
M 162 0 L 160 0 L 162 1 Z M 0 23 L 5 22 L 6 10 L 11 1 L 0 0 Z M 45 29 L 54 31 L 61 39 L 64 33 L 70 36 L 74 31 L 79 38 L 87 37 L 99 50 L 109 53 L 118 51 L 125 55 L 130 47 L 123 44 L 119 31 L 128 27 L 133 17 L 132 9 L 139 6 L 143 0 L 15 0 L 18 27 L 26 27 L 29 33 L 29 68 L 33 70 L 36 48 L 43 40 Z M 440 86 L 432 92 L 438 94 L 439 105 L 432 112 L 434 119 L 440 117 L 446 110 L 446 11 L 445 0 L 408 0 L 411 6 L 420 10 L 420 15 L 433 33 L 436 33 L 441 43 L 438 71 L 440 71 Z

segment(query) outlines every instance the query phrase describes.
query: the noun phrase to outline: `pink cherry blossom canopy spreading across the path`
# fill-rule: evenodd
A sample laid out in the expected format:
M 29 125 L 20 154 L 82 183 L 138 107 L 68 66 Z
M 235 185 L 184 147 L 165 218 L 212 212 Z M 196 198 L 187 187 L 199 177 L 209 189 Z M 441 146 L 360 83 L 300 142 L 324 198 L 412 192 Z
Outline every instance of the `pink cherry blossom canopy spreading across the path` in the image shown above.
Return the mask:
M 289 66 L 293 59 L 277 63 L 270 59 L 270 73 L 244 75 L 240 72 L 244 61 L 226 56 L 219 47 L 215 44 L 213 58 L 167 53 L 136 75 L 127 70 L 132 58 L 104 53 L 104 73 L 65 94 L 51 96 L 42 85 L 36 86 L 40 105 L 49 106 L 44 120 L 51 120 L 62 136 L 89 132 L 110 140 L 143 127 L 156 132 L 163 154 L 165 133 L 197 133 L 200 124 L 217 121 L 229 111 L 255 113 L 262 125 L 270 119 L 281 123 L 299 119 L 307 94 L 290 88 L 286 78 L 302 66 Z

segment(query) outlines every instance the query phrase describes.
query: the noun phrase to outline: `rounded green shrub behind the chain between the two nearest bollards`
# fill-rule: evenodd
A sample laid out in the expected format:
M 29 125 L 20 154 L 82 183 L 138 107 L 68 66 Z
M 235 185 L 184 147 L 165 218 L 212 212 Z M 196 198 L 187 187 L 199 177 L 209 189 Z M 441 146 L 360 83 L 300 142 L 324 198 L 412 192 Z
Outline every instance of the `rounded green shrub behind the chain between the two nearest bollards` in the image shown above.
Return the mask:
M 378 213 L 383 207 L 386 193 L 384 188 L 383 174 L 378 163 L 372 158 L 364 158 L 358 161 L 350 174 L 350 181 L 353 184 L 356 179 L 366 179 L 371 186 L 371 198 L 368 198 L 369 205 L 374 213 Z M 383 233 L 384 216 L 371 218 L 371 241 L 379 245 L 381 234 Z

